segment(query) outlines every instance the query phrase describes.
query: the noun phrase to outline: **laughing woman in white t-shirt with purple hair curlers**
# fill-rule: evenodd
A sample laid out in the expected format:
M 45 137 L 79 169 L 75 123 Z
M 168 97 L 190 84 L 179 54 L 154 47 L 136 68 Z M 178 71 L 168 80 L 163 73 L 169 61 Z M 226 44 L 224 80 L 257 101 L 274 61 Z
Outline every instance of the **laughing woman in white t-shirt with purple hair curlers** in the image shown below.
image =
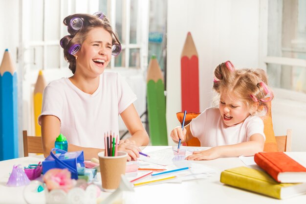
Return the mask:
M 121 115 L 131 138 L 120 140 L 118 150 L 128 153 L 128 160 L 139 157 L 139 146 L 146 146 L 149 136 L 136 112 L 136 95 L 114 72 L 105 72 L 111 55 L 121 51 L 120 42 L 103 13 L 74 14 L 64 19 L 69 35 L 61 46 L 73 75 L 48 84 L 43 93 L 42 126 L 44 156 L 62 133 L 68 151 L 84 151 L 85 159 L 98 157 L 104 148 L 104 134 L 118 135 Z

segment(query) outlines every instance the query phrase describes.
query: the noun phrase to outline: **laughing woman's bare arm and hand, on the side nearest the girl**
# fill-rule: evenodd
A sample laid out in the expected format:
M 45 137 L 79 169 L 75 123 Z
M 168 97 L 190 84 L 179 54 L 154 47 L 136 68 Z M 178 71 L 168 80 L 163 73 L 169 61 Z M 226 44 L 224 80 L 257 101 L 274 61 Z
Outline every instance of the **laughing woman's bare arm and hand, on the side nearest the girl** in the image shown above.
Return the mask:
M 128 152 L 130 157 L 128 157 L 128 160 L 131 160 L 131 158 L 137 160 L 140 152 L 139 147 L 147 146 L 149 143 L 148 133 L 144 129 L 140 117 L 133 104 L 131 104 L 120 115 L 126 127 L 128 128 L 131 137 L 128 139 L 120 140 L 118 149 Z

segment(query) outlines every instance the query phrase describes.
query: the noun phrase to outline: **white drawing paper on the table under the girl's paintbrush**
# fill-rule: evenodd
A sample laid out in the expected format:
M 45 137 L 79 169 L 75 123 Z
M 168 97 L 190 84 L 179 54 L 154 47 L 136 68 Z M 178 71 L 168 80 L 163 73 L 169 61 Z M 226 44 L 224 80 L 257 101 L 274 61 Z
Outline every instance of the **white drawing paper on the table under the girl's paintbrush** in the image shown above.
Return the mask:
M 194 151 L 200 151 L 204 149 L 207 149 L 207 147 L 181 146 L 179 152 L 177 153 L 177 147 L 168 147 L 153 152 L 146 152 L 146 154 L 150 157 L 144 157 L 140 155 L 139 160 L 166 166 L 173 164 L 175 161 L 184 160 L 189 155 L 192 155 Z

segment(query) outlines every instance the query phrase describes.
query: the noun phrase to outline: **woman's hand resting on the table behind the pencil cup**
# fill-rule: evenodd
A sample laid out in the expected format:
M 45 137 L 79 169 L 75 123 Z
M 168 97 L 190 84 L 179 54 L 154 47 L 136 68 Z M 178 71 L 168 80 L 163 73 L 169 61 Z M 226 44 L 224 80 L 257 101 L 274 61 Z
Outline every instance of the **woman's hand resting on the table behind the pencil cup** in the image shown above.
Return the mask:
M 137 160 L 139 152 L 141 151 L 136 145 L 136 142 L 130 139 L 121 139 L 118 146 L 119 151 L 128 153 L 128 161 Z

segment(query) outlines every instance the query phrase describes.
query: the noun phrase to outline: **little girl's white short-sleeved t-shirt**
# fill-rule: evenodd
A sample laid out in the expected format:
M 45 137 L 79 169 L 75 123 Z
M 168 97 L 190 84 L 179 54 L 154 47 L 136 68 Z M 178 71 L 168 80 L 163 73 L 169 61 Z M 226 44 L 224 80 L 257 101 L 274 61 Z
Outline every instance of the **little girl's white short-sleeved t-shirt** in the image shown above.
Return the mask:
M 249 141 L 253 134 L 263 133 L 263 121 L 258 116 L 248 116 L 242 123 L 226 126 L 218 108 L 208 108 L 190 122 L 193 136 L 200 140 L 202 147 L 238 144 Z

